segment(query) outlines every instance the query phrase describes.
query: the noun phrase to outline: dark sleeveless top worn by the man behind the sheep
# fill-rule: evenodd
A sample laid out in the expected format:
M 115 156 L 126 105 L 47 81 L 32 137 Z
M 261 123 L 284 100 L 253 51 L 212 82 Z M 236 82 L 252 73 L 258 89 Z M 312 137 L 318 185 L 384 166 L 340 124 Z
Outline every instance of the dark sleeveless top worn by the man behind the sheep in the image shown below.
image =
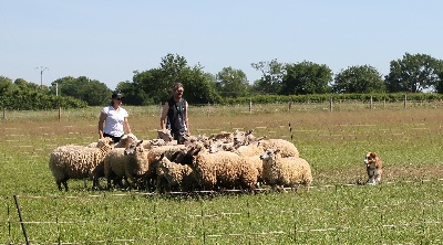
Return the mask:
M 172 132 L 185 131 L 186 100 L 182 98 L 182 100 L 175 102 L 174 97 L 171 97 L 167 104 L 169 105 L 167 127 Z

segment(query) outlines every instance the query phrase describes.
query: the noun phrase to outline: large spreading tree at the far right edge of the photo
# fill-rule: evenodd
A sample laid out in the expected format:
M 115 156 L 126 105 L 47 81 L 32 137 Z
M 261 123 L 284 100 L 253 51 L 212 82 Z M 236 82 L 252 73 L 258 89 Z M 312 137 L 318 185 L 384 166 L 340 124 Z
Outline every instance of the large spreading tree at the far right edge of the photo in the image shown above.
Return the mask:
M 418 93 L 435 88 L 441 83 L 440 63 L 426 54 L 405 53 L 403 58 L 391 61 L 390 73 L 385 76 L 388 90 Z

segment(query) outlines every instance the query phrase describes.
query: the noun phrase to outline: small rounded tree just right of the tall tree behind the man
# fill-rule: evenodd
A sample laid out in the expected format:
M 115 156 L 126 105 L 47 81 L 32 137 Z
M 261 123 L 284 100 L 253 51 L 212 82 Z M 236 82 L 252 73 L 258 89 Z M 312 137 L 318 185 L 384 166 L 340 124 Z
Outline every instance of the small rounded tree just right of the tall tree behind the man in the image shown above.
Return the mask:
M 231 66 L 224 67 L 216 75 L 216 88 L 224 97 L 246 96 L 249 90 L 249 82 L 241 70 Z

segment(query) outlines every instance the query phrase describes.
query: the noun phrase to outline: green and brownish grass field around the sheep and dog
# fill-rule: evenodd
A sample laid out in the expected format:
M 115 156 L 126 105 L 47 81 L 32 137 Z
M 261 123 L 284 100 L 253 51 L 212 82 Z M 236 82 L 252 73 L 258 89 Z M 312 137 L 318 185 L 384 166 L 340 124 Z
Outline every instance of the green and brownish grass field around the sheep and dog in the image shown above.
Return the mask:
M 48 160 L 58 146 L 97 139 L 100 108 L 8 113 L 0 124 L 0 244 L 443 244 L 441 103 L 315 107 L 190 107 L 193 135 L 255 129 L 293 141 L 313 172 L 298 192 L 175 195 L 60 192 Z M 156 137 L 156 107 L 128 107 L 133 132 Z M 378 152 L 382 183 L 365 181 Z M 89 182 L 89 187 L 91 183 Z

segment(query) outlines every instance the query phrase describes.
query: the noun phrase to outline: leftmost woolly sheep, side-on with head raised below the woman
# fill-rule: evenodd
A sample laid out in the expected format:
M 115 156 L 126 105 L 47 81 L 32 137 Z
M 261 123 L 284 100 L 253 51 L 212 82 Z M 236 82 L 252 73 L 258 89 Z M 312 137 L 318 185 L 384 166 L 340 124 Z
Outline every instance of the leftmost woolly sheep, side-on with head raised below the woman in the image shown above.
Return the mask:
M 69 190 L 69 179 L 92 178 L 95 168 L 103 164 L 103 159 L 114 142 L 106 137 L 99 140 L 97 146 L 99 148 L 89 148 L 68 145 L 58 147 L 51 152 L 49 168 L 59 190 L 62 190 L 62 184 L 65 191 Z

